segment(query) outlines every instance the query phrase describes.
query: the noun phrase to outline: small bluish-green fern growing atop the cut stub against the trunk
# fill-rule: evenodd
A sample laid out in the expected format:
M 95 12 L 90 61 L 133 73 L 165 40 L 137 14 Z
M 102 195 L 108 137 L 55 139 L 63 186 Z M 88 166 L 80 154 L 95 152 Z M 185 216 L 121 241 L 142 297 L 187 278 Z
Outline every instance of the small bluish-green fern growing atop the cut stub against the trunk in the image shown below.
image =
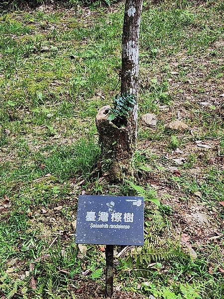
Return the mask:
M 126 118 L 128 113 L 135 105 L 135 96 L 123 93 L 113 99 L 113 107 L 111 108 L 108 120 L 113 121 L 116 118 Z

